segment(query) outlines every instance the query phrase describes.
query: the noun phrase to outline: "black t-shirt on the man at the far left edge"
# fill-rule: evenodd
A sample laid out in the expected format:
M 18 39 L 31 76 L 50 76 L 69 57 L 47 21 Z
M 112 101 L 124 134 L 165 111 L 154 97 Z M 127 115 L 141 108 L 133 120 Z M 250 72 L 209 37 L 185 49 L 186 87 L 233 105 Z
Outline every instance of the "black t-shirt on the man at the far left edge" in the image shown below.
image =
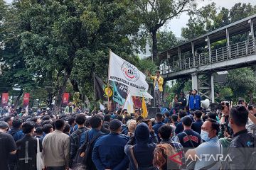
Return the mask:
M 0 132 L 0 169 L 8 170 L 9 153 L 15 150 L 14 138 L 10 134 Z

